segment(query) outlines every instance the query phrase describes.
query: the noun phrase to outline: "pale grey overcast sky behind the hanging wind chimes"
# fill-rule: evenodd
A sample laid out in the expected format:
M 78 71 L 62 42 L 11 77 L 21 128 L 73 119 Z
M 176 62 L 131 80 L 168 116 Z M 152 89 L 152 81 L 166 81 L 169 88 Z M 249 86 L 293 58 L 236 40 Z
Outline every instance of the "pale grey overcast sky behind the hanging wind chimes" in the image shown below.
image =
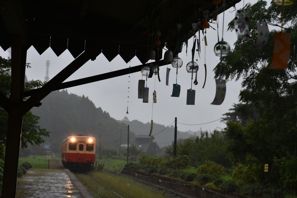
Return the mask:
M 245 3 L 247 2 L 254 4 L 256 1 L 245 1 Z M 242 5 L 243 2 L 239 2 L 238 4 L 236 4 L 236 8 L 239 9 L 242 7 Z M 235 12 L 231 11 L 233 11 L 233 7 L 225 11 L 224 40 L 228 42 L 231 46 L 231 49 L 233 49 L 233 44 L 237 39 L 236 33 L 235 31 L 227 31 L 228 23 L 235 17 Z M 220 14 L 218 17 L 219 38 L 221 39 L 223 14 Z M 217 29 L 216 25 L 211 24 L 211 26 Z M 272 29 L 271 26 L 269 27 L 269 29 Z M 155 81 L 155 76 L 148 79 L 147 85 L 149 87 L 150 93 L 149 103 L 143 103 L 142 99 L 138 99 L 137 89 L 138 80 L 142 79 L 141 72 L 133 73 L 130 75 L 130 84 L 128 82 L 129 75 L 124 75 L 108 80 L 68 88 L 68 93 L 74 93 L 80 96 L 88 96 L 89 99 L 94 102 L 96 107 L 101 107 L 103 111 L 107 111 L 111 117 L 117 120 L 121 120 L 122 118 L 124 118 L 124 116 L 127 116 L 130 121 L 139 120 L 144 123 L 151 122 L 153 102 L 152 93 L 154 90 L 157 91 L 157 103 L 154 104 L 153 108 L 153 121 L 155 123 L 168 126 L 174 121 L 175 117 L 177 117 L 178 123 L 184 124 L 207 123 L 222 118 L 222 114 L 228 112 L 228 109 L 232 107 L 233 103 L 239 102 L 238 95 L 241 89 L 241 81 L 239 80 L 236 82 L 233 80 L 227 83 L 226 97 L 221 105 L 210 104 L 214 99 L 216 91 L 213 69 L 219 63 L 219 57 L 215 56 L 214 54 L 214 45 L 217 43 L 217 31 L 213 30 L 212 28 L 207 29 L 206 36 L 208 42 L 208 46 L 206 46 L 207 78 L 205 87 L 202 88 L 205 76 L 203 66 L 205 47 L 204 42 L 201 42 L 201 59 L 198 56 L 197 61 L 199 65 L 198 85 L 192 86 L 192 89 L 196 90 L 195 105 L 186 105 L 187 89 L 191 88 L 191 74 L 187 73 L 186 65 L 188 62 L 191 61 L 192 58 L 191 49 L 193 38 L 189 39 L 187 54 L 188 56 L 186 56 L 185 47 L 179 54 L 179 57 L 183 60 L 183 66 L 178 69 L 177 77 L 177 83 L 181 85 L 181 92 L 179 97 L 170 96 L 172 94 L 173 84 L 176 82 L 176 68 L 173 68 L 171 64 L 168 65 L 168 67 L 171 69 L 169 75 L 169 86 L 165 85 L 167 66 L 160 67 L 159 72 L 161 82 L 158 81 L 158 78 Z M 162 35 L 160 37 L 160 40 L 162 40 Z M 164 52 L 165 50 L 163 50 L 163 53 Z M 2 48 L 0 48 L 0 56 L 6 58 L 8 57 L 8 55 L 8 51 L 4 52 Z M 197 55 L 195 54 L 195 59 L 196 57 Z M 64 53 L 57 57 L 50 48 L 48 48 L 42 55 L 39 55 L 34 47 L 31 46 L 27 53 L 27 62 L 31 63 L 31 68 L 26 70 L 26 76 L 28 80 L 39 79 L 44 81 L 46 60 L 50 60 L 49 77 L 51 79 L 69 63 L 71 63 L 74 58 L 68 50 L 65 50 Z M 122 60 L 120 55 L 116 56 L 116 58 L 109 62 L 101 53 L 95 61 L 88 61 L 66 81 L 103 74 L 106 72 L 128 68 L 130 65 L 132 67 L 140 64 L 141 63 L 136 56 L 131 60 L 130 63 L 126 64 L 124 60 Z M 128 87 L 130 87 L 129 90 Z M 126 111 L 128 91 L 129 114 L 127 115 Z M 212 131 L 217 127 L 225 127 L 225 124 L 221 123 L 220 121 L 198 126 L 178 124 L 178 130 L 180 131 L 197 131 L 200 130 L 200 127 L 202 128 L 202 130 L 210 129 Z M 157 132 L 153 132 L 153 134 L 154 133 Z

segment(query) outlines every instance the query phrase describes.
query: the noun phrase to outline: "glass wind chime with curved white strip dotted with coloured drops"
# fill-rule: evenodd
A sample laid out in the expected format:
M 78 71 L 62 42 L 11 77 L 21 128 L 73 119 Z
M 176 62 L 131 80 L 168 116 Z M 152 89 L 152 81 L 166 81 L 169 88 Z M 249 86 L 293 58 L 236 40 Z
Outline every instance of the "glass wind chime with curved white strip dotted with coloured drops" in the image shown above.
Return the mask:
M 220 56 L 220 75 L 219 79 L 216 80 L 216 95 L 214 97 L 214 101 L 211 104 L 220 105 L 223 103 L 226 95 L 226 81 L 222 79 L 221 71 L 222 71 L 222 57 L 228 56 L 230 53 L 230 45 L 224 41 L 223 34 L 224 34 L 224 19 L 225 19 L 225 5 L 226 1 L 223 0 L 224 4 L 224 12 L 223 12 L 223 28 L 222 28 L 222 40 L 217 42 L 214 46 L 214 53 L 216 56 Z M 219 31 L 219 29 L 218 29 Z

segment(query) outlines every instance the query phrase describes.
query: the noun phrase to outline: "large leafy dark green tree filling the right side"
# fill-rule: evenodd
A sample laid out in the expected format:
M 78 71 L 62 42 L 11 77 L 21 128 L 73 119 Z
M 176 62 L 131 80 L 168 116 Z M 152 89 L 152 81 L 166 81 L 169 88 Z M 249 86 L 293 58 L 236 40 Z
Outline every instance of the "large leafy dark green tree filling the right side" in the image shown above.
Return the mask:
M 282 7 L 276 6 L 273 1 L 267 9 L 266 5 L 263 1 L 262 20 L 270 24 L 280 24 Z M 291 34 L 291 51 L 287 69 L 283 70 L 269 69 L 275 45 L 274 33 L 278 32 L 277 30 L 269 32 L 265 47 L 251 49 L 257 38 L 255 22 L 260 18 L 260 1 L 254 5 L 247 4 L 244 10 L 249 12 L 251 39 L 238 39 L 229 56 L 222 58 L 222 68 L 218 64 L 214 70 L 215 77 L 219 77 L 221 69 L 222 78 L 227 81 L 243 79 L 239 94 L 243 105 L 233 106 L 233 110 L 245 118 L 252 118 L 255 110 L 258 115 L 257 119 L 245 124 L 242 123 L 242 118 L 241 122 L 238 122 L 240 119 L 236 121 L 237 118 L 233 119 L 229 114 L 231 119 L 227 120 L 223 134 L 228 142 L 228 151 L 234 155 L 236 161 L 268 164 L 272 170 L 277 170 L 268 172 L 267 175 L 268 182 L 275 184 L 274 181 L 280 179 L 277 176 L 279 169 L 276 168 L 275 160 L 283 159 L 287 152 L 294 155 L 297 138 L 297 98 L 293 91 L 297 88 L 297 59 L 294 55 L 294 45 L 297 43 L 297 4 L 284 8 L 284 32 Z M 232 20 L 228 30 L 234 29 Z M 264 181 L 265 177 L 261 175 L 260 179 Z

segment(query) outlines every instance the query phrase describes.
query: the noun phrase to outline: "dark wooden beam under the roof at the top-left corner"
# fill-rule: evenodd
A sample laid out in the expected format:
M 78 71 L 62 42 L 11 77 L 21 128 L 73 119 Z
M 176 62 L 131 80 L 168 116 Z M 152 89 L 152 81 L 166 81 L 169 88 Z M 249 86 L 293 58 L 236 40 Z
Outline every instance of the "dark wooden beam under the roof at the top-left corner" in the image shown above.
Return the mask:
M 21 45 L 27 44 L 27 25 L 20 0 L 7 0 L 7 7 L 0 9 L 5 26 L 10 34 L 19 34 Z

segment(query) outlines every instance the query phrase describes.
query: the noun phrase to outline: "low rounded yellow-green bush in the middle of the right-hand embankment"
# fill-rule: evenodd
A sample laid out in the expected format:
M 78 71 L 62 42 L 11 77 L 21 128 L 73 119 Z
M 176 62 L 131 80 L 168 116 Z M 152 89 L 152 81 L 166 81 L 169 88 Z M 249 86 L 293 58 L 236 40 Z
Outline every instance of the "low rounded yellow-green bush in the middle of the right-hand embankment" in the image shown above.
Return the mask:
M 203 166 L 197 168 L 197 173 L 199 174 L 224 175 L 226 171 L 225 167 L 213 161 L 205 161 Z

